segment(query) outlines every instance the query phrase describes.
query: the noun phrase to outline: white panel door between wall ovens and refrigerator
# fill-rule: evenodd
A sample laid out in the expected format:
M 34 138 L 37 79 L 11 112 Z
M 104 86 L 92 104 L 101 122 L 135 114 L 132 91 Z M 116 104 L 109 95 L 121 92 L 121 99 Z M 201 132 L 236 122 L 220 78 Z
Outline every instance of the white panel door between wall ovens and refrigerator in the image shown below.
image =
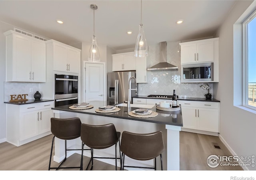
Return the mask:
M 104 100 L 104 64 L 85 64 L 85 100 Z

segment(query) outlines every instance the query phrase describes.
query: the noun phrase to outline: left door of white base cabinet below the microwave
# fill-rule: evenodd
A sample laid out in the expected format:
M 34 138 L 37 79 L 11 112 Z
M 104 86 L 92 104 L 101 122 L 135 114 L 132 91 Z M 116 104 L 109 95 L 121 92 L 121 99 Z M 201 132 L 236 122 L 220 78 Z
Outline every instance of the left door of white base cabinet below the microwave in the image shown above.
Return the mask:
M 183 128 L 197 129 L 197 109 L 182 106 Z

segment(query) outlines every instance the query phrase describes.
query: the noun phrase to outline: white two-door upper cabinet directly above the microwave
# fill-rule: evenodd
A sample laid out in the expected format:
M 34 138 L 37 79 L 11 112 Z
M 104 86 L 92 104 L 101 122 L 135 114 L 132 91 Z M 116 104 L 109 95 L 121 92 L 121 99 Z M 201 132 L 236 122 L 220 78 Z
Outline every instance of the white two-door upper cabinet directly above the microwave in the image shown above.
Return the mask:
M 214 62 L 218 54 L 218 38 L 180 43 L 181 64 Z

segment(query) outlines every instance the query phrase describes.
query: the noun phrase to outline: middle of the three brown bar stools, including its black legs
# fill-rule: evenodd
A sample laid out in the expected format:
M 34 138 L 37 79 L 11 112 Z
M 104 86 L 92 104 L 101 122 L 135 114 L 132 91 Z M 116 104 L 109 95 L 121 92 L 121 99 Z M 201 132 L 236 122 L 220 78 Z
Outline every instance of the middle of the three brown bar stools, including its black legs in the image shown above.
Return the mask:
M 89 124 L 82 124 L 81 125 L 81 140 L 83 142 L 82 145 L 82 158 L 81 158 L 81 170 L 83 169 L 83 148 L 84 145 L 91 148 L 91 159 L 86 167 L 90 162 L 92 162 L 91 169 L 93 168 L 93 158 L 103 158 L 103 159 L 116 159 L 116 170 L 117 170 L 117 159 L 120 159 L 121 164 L 121 152 L 120 152 L 120 132 L 116 132 L 116 128 L 114 124 L 104 124 L 104 125 L 89 125 Z M 94 157 L 93 156 L 93 149 L 106 149 L 119 142 L 119 155 L 120 158 L 112 157 Z M 116 149 L 115 149 L 116 155 Z M 122 166 L 122 164 L 121 164 Z

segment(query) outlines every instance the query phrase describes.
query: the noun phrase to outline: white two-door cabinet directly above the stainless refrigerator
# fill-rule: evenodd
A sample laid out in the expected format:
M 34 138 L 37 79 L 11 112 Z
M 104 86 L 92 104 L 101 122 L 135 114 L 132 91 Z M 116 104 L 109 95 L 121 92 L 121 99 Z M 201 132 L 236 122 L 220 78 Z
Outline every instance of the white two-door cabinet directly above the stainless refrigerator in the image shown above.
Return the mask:
M 112 54 L 112 71 L 136 70 L 134 52 Z

